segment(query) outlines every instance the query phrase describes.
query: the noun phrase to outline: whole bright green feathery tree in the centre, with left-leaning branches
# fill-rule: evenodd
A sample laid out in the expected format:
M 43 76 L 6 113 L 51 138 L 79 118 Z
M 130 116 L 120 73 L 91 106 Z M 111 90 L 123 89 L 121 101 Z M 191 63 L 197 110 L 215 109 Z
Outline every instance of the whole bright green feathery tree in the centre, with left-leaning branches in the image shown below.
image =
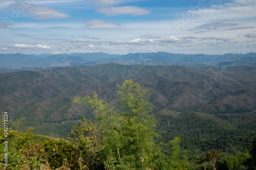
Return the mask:
M 125 80 L 117 85 L 118 106 L 111 106 L 99 99 L 96 92 L 93 97 L 77 96 L 74 102 L 89 104 L 98 114 L 103 147 L 107 153 L 113 151 L 115 160 L 123 169 L 150 167 L 154 155 L 156 119 L 152 115 L 153 105 L 148 102 L 152 91 Z

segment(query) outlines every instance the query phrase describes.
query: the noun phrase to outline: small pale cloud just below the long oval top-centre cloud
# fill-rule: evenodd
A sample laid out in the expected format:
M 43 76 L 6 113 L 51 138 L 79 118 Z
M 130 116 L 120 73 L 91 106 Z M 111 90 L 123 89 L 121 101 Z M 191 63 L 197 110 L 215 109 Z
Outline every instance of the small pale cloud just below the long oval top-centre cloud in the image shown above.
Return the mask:
M 86 22 L 89 26 L 87 29 L 110 29 L 120 27 L 117 23 L 106 22 L 103 20 L 90 20 Z

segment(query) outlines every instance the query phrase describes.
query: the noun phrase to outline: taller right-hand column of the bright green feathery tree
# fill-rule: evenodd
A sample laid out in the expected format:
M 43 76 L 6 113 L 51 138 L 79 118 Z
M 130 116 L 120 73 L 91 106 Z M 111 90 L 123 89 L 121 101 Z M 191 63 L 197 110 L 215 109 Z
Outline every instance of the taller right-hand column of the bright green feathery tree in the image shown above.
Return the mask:
M 122 86 L 118 85 L 118 102 L 121 106 L 120 116 L 124 119 L 122 124 L 122 147 L 125 153 L 129 153 L 123 159 L 134 159 L 135 167 L 148 166 L 153 155 L 151 154 L 155 146 L 153 137 L 155 133 L 156 119 L 150 113 L 153 105 L 148 102 L 148 98 L 153 94 L 151 90 L 143 88 L 138 83 L 126 80 Z M 132 153 L 132 154 L 131 154 Z M 139 163 L 138 160 L 141 159 Z M 130 160 L 131 161 L 131 160 Z

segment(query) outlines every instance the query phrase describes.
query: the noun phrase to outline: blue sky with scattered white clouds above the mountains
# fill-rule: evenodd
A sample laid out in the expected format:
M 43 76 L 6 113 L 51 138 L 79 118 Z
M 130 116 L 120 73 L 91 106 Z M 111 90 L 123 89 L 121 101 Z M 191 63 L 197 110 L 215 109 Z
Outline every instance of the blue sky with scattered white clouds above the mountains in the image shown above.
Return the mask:
M 1 54 L 256 52 L 255 0 L 1 0 Z

